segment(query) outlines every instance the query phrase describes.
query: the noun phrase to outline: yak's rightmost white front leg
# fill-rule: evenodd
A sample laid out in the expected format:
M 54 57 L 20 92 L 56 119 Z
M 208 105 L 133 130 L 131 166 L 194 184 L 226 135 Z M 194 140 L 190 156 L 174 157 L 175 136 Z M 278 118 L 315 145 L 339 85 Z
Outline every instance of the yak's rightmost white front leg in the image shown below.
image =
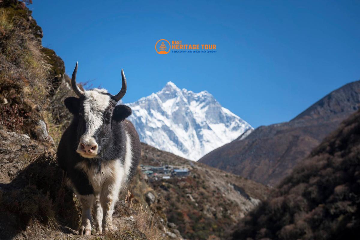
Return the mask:
M 116 230 L 116 227 L 114 228 L 112 224 L 112 214 L 119 197 L 120 186 L 121 183 L 119 181 L 106 184 L 100 196 L 100 203 L 103 207 L 102 227 L 105 233 Z

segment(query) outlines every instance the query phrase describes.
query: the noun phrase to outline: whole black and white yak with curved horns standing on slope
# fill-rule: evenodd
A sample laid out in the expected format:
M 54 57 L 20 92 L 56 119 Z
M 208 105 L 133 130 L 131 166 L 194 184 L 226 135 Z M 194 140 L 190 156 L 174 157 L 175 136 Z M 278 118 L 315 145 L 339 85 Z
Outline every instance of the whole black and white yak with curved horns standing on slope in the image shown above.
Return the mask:
M 120 190 L 136 171 L 140 141 L 131 122 L 131 109 L 116 105 L 125 95 L 126 78 L 115 96 L 105 89 L 82 91 L 76 84 L 77 63 L 71 85 L 79 98 L 64 103 L 73 114 L 58 147 L 58 162 L 82 205 L 79 235 L 91 234 L 91 207 L 99 234 L 114 230 L 112 214 Z

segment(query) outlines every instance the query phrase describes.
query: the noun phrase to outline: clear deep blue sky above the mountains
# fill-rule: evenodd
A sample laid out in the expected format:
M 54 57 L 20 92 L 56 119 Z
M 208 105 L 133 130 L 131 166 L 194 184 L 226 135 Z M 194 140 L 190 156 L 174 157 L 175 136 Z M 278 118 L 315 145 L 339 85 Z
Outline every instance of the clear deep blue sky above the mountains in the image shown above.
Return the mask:
M 289 121 L 360 79 L 360 1 L 40 1 L 29 6 L 78 81 L 124 102 L 172 81 L 207 90 L 253 127 Z M 217 53 L 159 55 L 159 39 L 216 44 Z

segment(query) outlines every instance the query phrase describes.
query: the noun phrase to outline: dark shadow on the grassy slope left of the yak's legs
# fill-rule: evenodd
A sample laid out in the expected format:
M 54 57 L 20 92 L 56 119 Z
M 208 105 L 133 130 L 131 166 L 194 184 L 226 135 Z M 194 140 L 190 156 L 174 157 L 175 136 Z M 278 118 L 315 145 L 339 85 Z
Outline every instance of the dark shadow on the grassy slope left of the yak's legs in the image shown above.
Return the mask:
M 0 184 L 1 239 L 13 239 L 27 226 L 72 233 L 80 219 L 73 193 L 62 182 L 63 173 L 47 153 L 30 163 L 9 184 Z

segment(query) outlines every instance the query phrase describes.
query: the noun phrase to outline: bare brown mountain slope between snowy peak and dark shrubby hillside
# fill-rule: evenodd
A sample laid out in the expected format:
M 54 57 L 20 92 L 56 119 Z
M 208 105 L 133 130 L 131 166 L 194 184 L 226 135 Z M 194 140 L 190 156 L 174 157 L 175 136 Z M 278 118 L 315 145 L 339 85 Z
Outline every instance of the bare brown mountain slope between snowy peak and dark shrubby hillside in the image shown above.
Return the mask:
M 359 104 L 360 81 L 348 83 L 290 122 L 258 127 L 199 162 L 275 186 Z

